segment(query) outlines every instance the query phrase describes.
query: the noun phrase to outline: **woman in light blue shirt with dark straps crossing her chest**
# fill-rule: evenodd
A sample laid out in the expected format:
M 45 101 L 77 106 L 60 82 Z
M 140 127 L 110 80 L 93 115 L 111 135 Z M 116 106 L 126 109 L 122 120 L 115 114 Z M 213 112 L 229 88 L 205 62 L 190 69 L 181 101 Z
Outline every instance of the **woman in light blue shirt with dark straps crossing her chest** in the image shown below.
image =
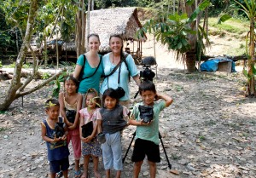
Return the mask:
M 129 80 L 140 84 L 137 66 L 131 55 L 123 51 L 123 38 L 114 34 L 109 37 L 109 46 L 112 52 L 102 58 L 105 78 L 103 80 L 100 93 L 103 95 L 106 89 L 117 89 L 119 93 L 119 104 L 129 108 Z M 122 94 L 122 95 L 120 95 Z

